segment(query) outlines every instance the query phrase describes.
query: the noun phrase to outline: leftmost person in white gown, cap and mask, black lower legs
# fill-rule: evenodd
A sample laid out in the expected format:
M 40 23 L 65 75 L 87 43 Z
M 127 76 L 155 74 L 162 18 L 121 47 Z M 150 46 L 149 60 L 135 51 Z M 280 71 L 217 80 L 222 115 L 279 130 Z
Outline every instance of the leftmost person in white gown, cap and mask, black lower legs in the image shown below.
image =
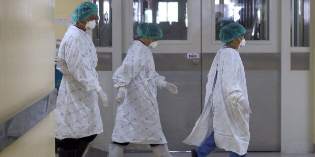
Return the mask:
M 107 105 L 95 70 L 96 49 L 85 31 L 95 27 L 98 8 L 80 3 L 73 11 L 75 25 L 68 28 L 59 47 L 57 69 L 63 73 L 55 109 L 59 157 L 82 156 L 88 143 L 103 132 L 98 97 Z

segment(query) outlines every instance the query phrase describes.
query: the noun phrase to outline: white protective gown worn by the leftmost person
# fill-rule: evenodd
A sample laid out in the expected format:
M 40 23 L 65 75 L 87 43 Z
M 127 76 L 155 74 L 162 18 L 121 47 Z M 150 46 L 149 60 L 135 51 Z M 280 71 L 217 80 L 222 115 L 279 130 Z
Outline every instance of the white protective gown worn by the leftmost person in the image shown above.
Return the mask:
M 90 35 L 70 26 L 63 37 L 57 69 L 63 73 L 55 109 L 56 138 L 80 138 L 103 132 L 97 104 L 100 88 L 96 49 Z

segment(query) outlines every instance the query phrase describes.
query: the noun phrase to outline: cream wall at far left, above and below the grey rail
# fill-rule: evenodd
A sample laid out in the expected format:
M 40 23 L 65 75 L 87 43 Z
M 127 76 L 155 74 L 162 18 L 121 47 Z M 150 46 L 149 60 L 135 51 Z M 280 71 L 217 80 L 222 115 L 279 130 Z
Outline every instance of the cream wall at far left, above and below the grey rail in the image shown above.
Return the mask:
M 0 0 L 0 7 L 1 123 L 54 88 L 55 37 L 54 0 Z M 53 126 L 51 114 L 0 156 L 53 156 Z

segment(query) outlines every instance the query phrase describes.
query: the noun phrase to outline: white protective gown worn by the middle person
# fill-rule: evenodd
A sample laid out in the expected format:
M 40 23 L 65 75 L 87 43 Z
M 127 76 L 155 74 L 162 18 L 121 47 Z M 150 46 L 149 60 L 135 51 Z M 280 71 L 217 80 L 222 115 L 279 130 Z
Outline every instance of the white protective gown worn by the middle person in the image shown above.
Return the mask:
M 113 75 L 115 87 L 126 85 L 125 99 L 117 109 L 113 141 L 167 143 L 156 101 L 156 86 L 163 87 L 164 79 L 155 71 L 151 50 L 142 42 L 133 41 Z

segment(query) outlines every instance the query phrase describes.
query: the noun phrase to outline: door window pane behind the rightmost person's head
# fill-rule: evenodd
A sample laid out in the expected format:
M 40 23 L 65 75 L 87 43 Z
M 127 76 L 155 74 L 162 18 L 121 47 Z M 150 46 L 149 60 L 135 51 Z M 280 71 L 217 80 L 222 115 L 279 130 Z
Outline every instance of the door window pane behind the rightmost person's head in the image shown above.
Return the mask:
M 269 0 L 215 0 L 216 40 L 232 22 L 242 24 L 246 40 L 269 40 Z

